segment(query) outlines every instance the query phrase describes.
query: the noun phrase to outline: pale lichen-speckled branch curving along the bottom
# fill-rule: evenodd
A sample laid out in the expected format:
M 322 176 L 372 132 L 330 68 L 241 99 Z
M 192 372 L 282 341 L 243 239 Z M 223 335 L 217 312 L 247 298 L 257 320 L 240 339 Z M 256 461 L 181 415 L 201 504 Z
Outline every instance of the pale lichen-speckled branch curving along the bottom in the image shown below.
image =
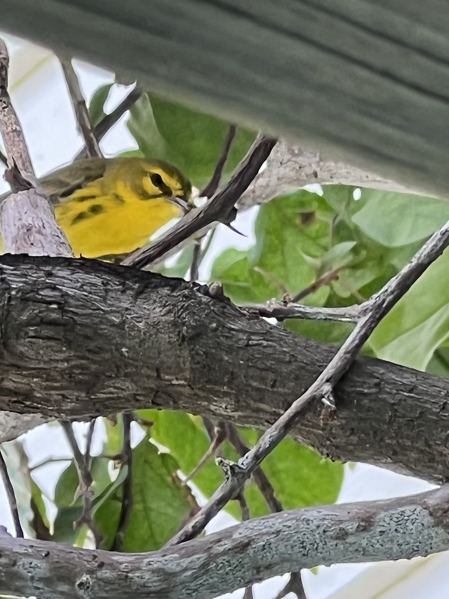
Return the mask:
M 153 553 L 111 553 L 0 536 L 0 592 L 46 599 L 209 599 L 335 563 L 412 558 L 449 548 L 449 487 L 251 519 Z

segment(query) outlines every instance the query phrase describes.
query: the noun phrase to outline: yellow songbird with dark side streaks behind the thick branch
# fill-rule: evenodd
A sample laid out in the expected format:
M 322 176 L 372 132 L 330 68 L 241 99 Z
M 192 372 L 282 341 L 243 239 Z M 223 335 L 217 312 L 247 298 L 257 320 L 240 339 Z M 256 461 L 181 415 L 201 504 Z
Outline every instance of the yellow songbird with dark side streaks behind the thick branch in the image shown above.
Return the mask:
M 86 158 L 40 180 L 75 256 L 133 252 L 192 207 L 192 186 L 176 168 L 147 158 Z

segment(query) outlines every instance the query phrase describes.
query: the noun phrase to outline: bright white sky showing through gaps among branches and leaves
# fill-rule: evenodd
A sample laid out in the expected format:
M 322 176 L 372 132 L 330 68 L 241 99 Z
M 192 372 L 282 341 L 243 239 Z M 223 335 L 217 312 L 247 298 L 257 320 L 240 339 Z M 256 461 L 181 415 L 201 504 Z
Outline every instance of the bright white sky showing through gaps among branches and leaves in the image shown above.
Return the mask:
M 65 83 L 57 60 L 36 46 L 23 43 L 17 38 L 6 37 L 11 53 L 10 90 L 16 111 L 22 122 L 26 140 L 38 176 L 72 160 L 81 149 L 81 138 L 77 133 L 72 108 L 66 94 Z M 83 63 L 75 63 L 80 75 L 81 87 L 86 98 L 95 89 L 113 80 L 113 75 L 102 69 Z M 31 72 L 30 72 L 31 71 Z M 108 101 L 110 110 L 126 94 L 126 88 L 114 90 Z M 125 126 L 125 117 L 102 140 L 105 155 L 136 147 L 134 139 Z M 0 180 L 0 192 L 7 189 Z M 252 223 L 257 209 L 239 216 L 235 226 L 248 237 L 233 234 L 222 226 L 211 247 L 202 276 L 207 277 L 211 262 L 218 253 L 229 246 L 248 247 L 253 240 Z M 51 456 L 69 457 L 71 454 L 63 435 L 56 427 L 36 429 L 25 437 L 25 447 L 32 464 Z M 83 426 L 78 427 L 82 437 Z M 96 440 L 98 446 L 101 438 Z M 94 446 L 95 450 L 95 446 Z M 63 467 L 63 466 L 62 466 Z M 53 493 L 54 483 L 61 470 L 55 464 L 43 468 L 38 474 L 38 483 L 48 494 Z M 400 476 L 390 471 L 368 465 L 357 465 L 354 470 L 347 468 L 339 502 L 374 500 L 420 492 L 431 488 L 427 483 Z M 217 518 L 211 529 L 229 525 L 229 516 Z M 0 485 L 0 524 L 11 529 L 11 518 L 4 489 Z M 315 576 L 308 571 L 303 573 L 308 599 L 407 599 L 449 597 L 448 554 L 443 553 L 430 559 L 414 559 L 396 564 L 375 565 L 335 565 L 320 568 Z M 275 579 L 256 585 L 256 599 L 269 599 L 281 588 L 282 580 Z M 235 599 L 242 591 L 224 597 Z M 292 595 L 293 597 L 293 595 Z

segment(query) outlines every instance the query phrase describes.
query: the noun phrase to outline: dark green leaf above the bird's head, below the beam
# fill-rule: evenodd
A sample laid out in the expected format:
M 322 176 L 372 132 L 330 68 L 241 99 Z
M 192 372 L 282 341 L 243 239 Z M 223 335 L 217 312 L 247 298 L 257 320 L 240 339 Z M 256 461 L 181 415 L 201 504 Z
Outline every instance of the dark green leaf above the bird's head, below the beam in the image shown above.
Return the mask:
M 175 165 L 196 187 L 202 188 L 211 179 L 223 153 L 229 124 L 149 94 L 132 107 L 128 128 L 146 156 Z M 223 182 L 244 158 L 255 137 L 253 132 L 237 130 Z

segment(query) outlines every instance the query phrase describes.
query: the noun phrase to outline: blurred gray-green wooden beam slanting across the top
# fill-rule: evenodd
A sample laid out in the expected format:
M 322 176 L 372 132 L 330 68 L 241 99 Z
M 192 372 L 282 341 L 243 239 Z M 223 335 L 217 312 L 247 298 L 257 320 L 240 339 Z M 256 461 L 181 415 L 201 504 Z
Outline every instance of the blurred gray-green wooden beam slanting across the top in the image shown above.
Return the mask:
M 441 0 L 2 0 L 2 28 L 336 161 L 449 189 Z

